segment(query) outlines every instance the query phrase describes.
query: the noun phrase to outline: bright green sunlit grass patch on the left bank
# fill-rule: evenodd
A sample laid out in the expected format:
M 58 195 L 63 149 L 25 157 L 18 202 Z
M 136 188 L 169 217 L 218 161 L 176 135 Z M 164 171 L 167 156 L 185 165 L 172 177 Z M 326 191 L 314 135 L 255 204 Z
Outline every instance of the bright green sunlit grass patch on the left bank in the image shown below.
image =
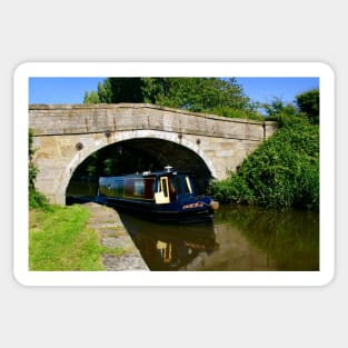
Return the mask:
M 87 229 L 82 206 L 30 210 L 29 269 L 43 271 L 105 270 L 96 231 Z

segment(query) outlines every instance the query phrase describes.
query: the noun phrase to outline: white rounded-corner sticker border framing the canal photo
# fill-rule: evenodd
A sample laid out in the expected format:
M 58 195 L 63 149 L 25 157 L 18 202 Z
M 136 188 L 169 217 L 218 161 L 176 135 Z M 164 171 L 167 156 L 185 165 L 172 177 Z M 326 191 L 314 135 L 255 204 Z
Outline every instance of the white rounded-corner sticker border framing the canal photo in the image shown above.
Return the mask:
M 320 78 L 320 270 L 207 272 L 29 271 L 30 77 Z M 24 286 L 324 286 L 335 276 L 335 74 L 321 62 L 27 62 L 13 76 L 13 275 Z M 27 192 L 23 197 L 23 192 Z

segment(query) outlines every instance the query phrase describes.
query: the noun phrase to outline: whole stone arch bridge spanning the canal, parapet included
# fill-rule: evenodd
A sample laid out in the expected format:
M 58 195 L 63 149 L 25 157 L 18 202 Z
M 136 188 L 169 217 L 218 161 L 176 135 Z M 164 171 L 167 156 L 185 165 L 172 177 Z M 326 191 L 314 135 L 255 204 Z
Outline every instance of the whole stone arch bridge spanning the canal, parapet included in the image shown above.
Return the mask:
M 143 103 L 30 105 L 29 127 L 39 168 L 36 186 L 59 205 L 79 165 L 107 146 L 127 145 L 163 167 L 193 171 L 205 185 L 228 177 L 276 129 L 274 122 Z

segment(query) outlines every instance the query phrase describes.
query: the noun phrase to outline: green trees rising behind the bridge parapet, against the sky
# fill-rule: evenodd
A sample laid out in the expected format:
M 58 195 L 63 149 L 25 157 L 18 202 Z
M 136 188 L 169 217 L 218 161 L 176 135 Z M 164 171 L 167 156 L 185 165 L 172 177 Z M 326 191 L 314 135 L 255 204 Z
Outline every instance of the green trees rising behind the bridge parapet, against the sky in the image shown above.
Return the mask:
M 233 78 L 108 78 L 98 84 L 98 92 L 86 92 L 83 102 L 150 102 L 225 117 L 260 118 Z

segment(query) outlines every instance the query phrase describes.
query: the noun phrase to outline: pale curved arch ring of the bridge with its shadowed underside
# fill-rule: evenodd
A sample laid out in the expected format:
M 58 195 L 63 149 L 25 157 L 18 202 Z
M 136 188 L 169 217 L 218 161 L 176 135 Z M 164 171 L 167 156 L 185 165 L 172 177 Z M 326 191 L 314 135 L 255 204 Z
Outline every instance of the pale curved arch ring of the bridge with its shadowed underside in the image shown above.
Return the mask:
M 200 191 L 205 191 L 210 178 L 217 177 L 215 166 L 205 151 L 200 149 L 199 141 L 193 142 L 177 133 L 158 130 L 121 131 L 110 132 L 108 137 L 98 137 L 93 141 L 80 143 L 81 148 L 77 149 L 68 163 L 57 192 L 66 195 L 74 171 L 92 153 L 106 147 L 118 145 L 146 153 L 160 162 L 162 167 L 171 165 L 173 168 L 195 172 Z M 64 197 L 57 197 L 57 199 L 61 201 L 64 200 Z

